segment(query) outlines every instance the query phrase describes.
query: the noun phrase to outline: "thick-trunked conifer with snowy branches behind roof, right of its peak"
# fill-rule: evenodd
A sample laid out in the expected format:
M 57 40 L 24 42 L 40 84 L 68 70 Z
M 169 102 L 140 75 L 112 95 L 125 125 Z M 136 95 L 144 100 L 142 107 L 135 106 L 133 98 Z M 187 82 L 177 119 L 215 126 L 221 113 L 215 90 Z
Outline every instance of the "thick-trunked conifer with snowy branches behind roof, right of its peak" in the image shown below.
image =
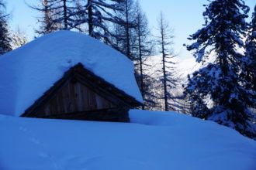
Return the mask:
M 110 39 L 116 37 L 110 29 L 111 23 L 120 24 L 123 22 L 116 16 L 116 12 L 122 10 L 124 0 L 88 0 L 82 8 L 78 10 L 78 14 L 85 17 L 75 21 L 74 26 L 81 24 L 88 25 L 88 35 L 95 39 L 101 39 L 106 44 L 112 45 Z

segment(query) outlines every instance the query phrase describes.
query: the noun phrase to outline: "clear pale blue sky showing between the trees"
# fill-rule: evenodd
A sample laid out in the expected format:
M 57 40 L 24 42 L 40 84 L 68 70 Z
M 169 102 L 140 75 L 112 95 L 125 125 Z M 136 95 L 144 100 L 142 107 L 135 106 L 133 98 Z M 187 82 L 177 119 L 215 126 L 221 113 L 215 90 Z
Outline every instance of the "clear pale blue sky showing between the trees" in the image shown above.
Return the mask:
M 8 0 L 7 8 L 12 13 L 10 19 L 12 29 L 19 26 L 26 32 L 29 39 L 33 39 L 33 29 L 36 27 L 36 16 L 40 14 L 29 8 L 26 4 L 36 5 L 40 0 Z M 253 10 L 254 0 L 246 0 L 247 5 Z M 192 55 L 182 44 L 190 43 L 187 38 L 190 34 L 202 28 L 204 11 L 203 4 L 208 4 L 207 0 L 140 0 L 140 4 L 147 14 L 150 29 L 155 32 L 157 27 L 157 17 L 163 12 L 165 18 L 174 29 L 174 49 L 181 59 L 186 59 Z

